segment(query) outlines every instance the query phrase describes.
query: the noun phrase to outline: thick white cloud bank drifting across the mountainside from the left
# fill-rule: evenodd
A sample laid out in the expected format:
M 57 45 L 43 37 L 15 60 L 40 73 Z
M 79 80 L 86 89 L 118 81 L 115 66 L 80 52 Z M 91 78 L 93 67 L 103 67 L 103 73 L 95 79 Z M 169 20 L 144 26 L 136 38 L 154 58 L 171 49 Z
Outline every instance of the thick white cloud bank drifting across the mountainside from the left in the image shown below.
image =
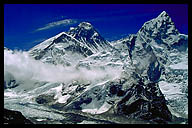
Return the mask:
M 76 69 L 51 65 L 34 60 L 27 52 L 4 50 L 4 74 L 11 73 L 19 81 L 70 82 L 72 80 L 97 81 L 105 77 L 114 78 L 120 75 L 117 69 Z

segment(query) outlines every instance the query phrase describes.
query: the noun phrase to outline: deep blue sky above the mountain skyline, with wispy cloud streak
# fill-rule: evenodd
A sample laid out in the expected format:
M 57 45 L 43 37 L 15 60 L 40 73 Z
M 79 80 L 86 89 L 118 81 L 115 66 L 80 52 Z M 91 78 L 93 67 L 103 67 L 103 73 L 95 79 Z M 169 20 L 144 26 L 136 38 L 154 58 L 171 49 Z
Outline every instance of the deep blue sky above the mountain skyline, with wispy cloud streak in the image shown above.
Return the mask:
M 186 4 L 5 4 L 4 46 L 28 50 L 82 21 L 90 22 L 105 39 L 116 40 L 137 33 L 162 11 L 188 34 Z

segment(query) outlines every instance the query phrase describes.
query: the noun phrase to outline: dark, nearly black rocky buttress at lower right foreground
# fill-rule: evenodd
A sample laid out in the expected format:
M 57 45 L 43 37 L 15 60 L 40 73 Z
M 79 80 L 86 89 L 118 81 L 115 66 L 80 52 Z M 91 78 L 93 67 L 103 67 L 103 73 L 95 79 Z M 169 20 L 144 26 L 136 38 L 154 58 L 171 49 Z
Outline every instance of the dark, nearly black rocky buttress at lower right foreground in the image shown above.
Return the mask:
M 158 123 L 166 123 L 172 118 L 166 100 L 156 83 L 144 85 L 143 82 L 139 82 L 132 85 L 126 96 L 116 105 L 116 113 Z

